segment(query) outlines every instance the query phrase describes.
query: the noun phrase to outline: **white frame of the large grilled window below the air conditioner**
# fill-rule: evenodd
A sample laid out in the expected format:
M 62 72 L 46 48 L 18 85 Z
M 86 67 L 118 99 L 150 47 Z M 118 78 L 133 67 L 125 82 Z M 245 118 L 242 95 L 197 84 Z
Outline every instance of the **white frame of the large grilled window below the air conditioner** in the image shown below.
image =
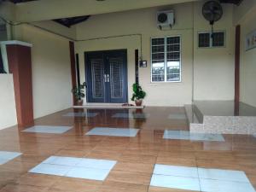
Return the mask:
M 179 38 L 179 80 L 177 81 L 167 81 L 167 38 Z M 164 81 L 153 81 L 152 77 L 152 69 L 153 69 L 153 58 L 152 58 L 152 39 L 154 38 L 165 38 L 165 80 Z M 152 84 L 172 84 L 172 83 L 181 83 L 182 82 L 182 37 L 181 35 L 172 35 L 165 37 L 153 37 L 150 38 L 150 59 L 151 59 L 151 67 L 150 67 L 150 82 Z

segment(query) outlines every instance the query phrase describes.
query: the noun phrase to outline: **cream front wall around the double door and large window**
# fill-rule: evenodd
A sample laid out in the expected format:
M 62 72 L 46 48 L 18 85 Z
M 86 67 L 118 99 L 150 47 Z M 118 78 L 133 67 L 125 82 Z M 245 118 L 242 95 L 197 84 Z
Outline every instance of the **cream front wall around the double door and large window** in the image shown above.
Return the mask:
M 148 67 L 139 68 L 139 80 L 148 96 L 145 103 L 151 106 L 173 105 L 180 106 L 190 103 L 192 97 L 192 3 L 175 5 L 177 24 L 171 31 L 160 31 L 155 25 L 155 13 L 159 9 L 153 8 L 92 16 L 86 22 L 77 26 L 77 38 L 100 38 L 115 35 L 142 34 L 143 60 L 148 61 Z M 150 83 L 150 38 L 181 35 L 182 38 L 182 67 L 181 83 Z M 131 84 L 135 82 L 134 50 L 140 49 L 140 37 L 108 38 L 104 40 L 82 41 L 75 44 L 79 53 L 82 68 L 81 79 L 84 81 L 84 51 L 102 49 L 128 49 L 128 92 L 131 98 Z

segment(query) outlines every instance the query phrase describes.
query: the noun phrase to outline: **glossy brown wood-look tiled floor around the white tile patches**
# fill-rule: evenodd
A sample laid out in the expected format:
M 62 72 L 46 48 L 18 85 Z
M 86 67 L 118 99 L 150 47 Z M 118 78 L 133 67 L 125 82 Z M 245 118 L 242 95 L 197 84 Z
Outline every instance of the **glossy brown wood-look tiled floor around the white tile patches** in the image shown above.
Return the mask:
M 128 113 L 125 109 L 88 110 L 89 113 L 97 113 L 93 117 L 63 116 L 67 113 L 74 114 L 73 112 L 73 109 L 68 109 L 36 120 L 36 125 L 73 126 L 73 129 L 62 134 L 24 132 L 18 131 L 16 127 L 0 131 L 0 151 L 21 153 L 20 156 L 0 166 L 0 192 L 191 191 L 186 189 L 189 189 L 189 182 L 191 182 L 189 176 L 193 172 L 186 170 L 182 174 L 185 174 L 189 180 L 181 184 L 187 188 L 175 189 L 180 182 L 180 179 L 175 180 L 175 176 L 172 176 L 172 182 L 174 181 L 172 186 L 169 182 L 166 188 L 150 186 L 155 164 L 241 171 L 245 172 L 249 182 L 254 188 L 256 187 L 256 138 L 253 136 L 223 135 L 222 142 L 163 139 L 165 130 L 188 131 L 187 121 L 182 115 L 183 108 L 130 110 L 131 114 L 123 116 L 124 118 L 120 115 L 114 117 L 114 115 Z M 76 111 L 76 113 L 87 112 Z M 144 113 L 147 118 L 131 118 L 135 113 Z M 134 117 L 143 117 L 143 114 L 135 114 Z M 85 135 L 95 127 L 132 127 L 139 131 L 136 137 Z M 116 160 L 117 162 L 103 181 L 75 177 L 79 172 L 73 172 L 72 177 L 29 172 L 50 156 Z M 165 174 L 169 174 L 168 170 L 166 172 Z M 201 174 L 216 175 L 213 171 Z M 164 179 L 160 178 L 163 181 Z M 212 179 L 210 183 L 207 180 L 203 181 L 200 189 L 219 191 L 216 186 L 219 184 L 230 186 L 227 183 L 229 181 L 224 179 Z M 197 183 L 192 182 L 192 184 L 195 191 L 198 191 Z

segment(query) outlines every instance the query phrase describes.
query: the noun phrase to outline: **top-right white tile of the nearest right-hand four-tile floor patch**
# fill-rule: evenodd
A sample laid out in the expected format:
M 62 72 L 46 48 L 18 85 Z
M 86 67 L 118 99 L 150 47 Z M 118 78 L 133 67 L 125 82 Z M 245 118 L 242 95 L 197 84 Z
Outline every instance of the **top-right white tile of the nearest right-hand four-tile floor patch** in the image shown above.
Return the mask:
M 241 171 L 198 168 L 198 175 L 200 178 L 250 183 L 245 172 Z

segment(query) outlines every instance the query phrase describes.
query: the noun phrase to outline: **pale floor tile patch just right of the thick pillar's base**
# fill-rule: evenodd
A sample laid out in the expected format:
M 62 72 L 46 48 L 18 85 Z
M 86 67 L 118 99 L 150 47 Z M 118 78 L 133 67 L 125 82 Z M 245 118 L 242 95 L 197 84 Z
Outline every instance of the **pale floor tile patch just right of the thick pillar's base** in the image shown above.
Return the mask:
M 71 126 L 48 126 L 48 125 L 35 125 L 23 132 L 36 132 L 36 133 L 53 133 L 53 134 L 62 134 L 71 130 Z

